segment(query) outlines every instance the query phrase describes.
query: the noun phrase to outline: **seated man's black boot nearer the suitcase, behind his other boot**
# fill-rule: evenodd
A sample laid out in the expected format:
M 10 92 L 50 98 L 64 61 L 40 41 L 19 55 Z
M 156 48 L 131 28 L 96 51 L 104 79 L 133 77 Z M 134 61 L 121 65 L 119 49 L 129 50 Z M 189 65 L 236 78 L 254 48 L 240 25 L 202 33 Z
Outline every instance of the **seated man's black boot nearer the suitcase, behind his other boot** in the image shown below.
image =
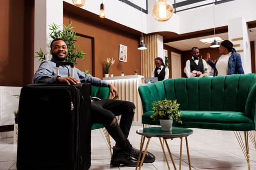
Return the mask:
M 127 166 L 127 167 L 136 167 L 137 161 L 131 159 L 131 157 L 125 152 L 123 152 L 122 149 L 114 146 L 110 165 L 113 167 L 118 167 L 120 165 Z

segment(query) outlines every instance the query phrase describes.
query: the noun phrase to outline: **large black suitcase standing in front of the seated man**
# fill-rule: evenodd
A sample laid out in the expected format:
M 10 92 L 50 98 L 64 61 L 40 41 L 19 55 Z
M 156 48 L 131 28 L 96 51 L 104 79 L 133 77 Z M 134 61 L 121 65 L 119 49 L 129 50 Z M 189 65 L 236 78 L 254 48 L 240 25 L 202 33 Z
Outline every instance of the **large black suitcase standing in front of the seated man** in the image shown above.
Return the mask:
M 91 85 L 26 85 L 19 102 L 17 170 L 88 170 Z

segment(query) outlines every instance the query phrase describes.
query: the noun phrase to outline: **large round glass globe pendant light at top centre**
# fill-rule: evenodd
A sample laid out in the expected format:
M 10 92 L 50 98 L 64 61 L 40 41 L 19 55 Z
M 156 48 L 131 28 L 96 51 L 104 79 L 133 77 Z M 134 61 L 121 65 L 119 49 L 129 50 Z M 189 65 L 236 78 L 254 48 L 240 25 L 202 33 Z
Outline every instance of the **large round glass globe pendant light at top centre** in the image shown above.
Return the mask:
M 161 22 L 170 19 L 173 12 L 173 5 L 168 0 L 158 0 L 152 9 L 153 17 Z

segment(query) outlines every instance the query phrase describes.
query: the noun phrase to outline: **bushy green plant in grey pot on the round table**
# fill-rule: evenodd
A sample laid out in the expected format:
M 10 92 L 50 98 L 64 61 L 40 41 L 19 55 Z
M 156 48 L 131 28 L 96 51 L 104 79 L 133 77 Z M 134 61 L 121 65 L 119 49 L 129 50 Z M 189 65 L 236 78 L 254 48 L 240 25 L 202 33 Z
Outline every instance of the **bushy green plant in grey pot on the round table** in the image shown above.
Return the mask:
M 173 120 L 182 123 L 179 103 L 177 100 L 162 100 L 152 103 L 154 113 L 150 116 L 153 120 L 160 121 L 162 131 L 171 131 Z

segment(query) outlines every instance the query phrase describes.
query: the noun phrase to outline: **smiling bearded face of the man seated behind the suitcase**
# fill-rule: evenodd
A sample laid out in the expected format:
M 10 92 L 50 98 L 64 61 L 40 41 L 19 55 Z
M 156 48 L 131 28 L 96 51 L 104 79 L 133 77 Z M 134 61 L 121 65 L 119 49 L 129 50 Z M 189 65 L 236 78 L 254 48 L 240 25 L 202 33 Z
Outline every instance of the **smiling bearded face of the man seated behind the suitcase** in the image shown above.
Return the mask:
M 65 61 L 68 55 L 68 48 L 64 41 L 57 40 L 52 44 L 51 54 L 58 61 Z

